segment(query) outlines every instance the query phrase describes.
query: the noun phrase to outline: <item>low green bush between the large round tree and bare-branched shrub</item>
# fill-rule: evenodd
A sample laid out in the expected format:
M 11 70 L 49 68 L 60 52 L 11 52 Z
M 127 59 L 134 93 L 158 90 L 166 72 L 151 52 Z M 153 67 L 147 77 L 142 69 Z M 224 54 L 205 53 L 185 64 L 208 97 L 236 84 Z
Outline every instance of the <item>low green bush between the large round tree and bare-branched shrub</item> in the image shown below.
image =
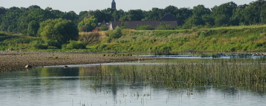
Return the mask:
M 86 45 L 81 41 L 69 41 L 69 44 L 62 45 L 64 49 L 86 49 Z

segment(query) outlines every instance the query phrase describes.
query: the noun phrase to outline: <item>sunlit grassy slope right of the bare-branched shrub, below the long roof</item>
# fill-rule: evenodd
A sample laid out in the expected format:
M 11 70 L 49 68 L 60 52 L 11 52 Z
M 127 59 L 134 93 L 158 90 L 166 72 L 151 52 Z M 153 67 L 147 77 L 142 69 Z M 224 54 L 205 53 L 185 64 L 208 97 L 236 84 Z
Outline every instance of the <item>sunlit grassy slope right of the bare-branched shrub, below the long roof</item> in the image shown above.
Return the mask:
M 99 51 L 253 52 L 266 51 L 266 26 L 232 26 L 171 31 L 134 31 Z

